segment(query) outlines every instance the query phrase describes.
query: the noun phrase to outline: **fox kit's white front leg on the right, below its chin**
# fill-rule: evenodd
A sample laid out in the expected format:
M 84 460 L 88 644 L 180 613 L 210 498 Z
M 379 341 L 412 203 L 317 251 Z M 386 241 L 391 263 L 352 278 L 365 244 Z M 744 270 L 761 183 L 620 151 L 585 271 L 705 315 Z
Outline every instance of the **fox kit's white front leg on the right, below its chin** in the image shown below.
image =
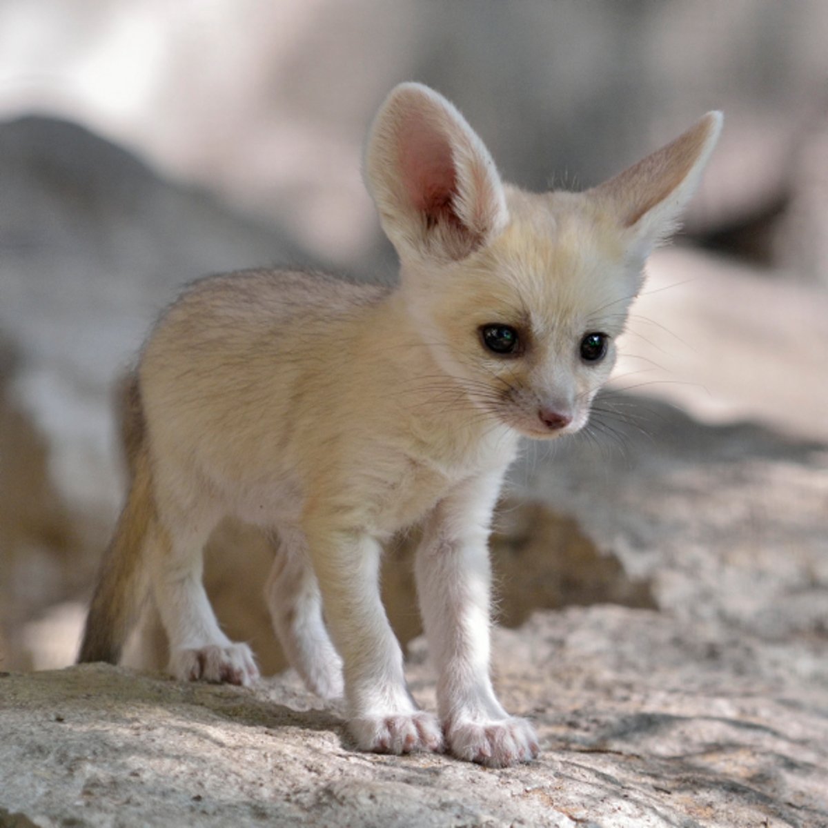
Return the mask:
M 475 479 L 438 503 L 416 558 L 448 749 L 493 768 L 527 762 L 538 751 L 532 725 L 503 710 L 489 676 L 488 539 L 500 481 L 499 474 Z

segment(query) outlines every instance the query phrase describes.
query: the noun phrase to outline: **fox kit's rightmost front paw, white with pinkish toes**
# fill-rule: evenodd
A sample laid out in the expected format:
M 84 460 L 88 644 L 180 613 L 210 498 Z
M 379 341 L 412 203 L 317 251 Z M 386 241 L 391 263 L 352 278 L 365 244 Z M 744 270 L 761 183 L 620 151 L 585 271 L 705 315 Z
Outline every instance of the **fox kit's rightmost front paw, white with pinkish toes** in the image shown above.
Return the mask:
M 446 728 L 451 753 L 488 768 L 508 768 L 537 757 L 538 744 L 532 725 L 510 716 L 499 721 L 458 719 Z

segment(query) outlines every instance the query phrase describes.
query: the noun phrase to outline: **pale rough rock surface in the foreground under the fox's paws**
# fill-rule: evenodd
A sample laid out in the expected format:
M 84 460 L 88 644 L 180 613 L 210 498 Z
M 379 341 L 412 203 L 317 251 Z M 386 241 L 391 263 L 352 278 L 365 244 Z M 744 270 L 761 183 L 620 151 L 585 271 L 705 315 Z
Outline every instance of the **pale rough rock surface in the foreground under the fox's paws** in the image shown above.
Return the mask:
M 596 606 L 536 614 L 494 649 L 503 700 L 543 745 L 503 770 L 354 753 L 291 676 L 7 675 L 0 804 L 44 828 L 828 825 L 826 685 L 749 633 Z M 430 704 L 419 642 L 408 672 Z

